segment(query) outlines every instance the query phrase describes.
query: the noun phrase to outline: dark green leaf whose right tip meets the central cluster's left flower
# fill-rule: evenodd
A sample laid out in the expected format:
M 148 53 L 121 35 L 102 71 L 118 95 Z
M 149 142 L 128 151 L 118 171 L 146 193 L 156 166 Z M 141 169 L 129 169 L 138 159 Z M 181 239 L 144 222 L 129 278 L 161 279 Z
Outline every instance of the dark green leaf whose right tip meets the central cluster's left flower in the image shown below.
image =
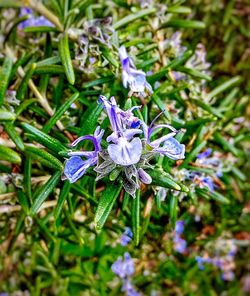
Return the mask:
M 63 170 L 63 164 L 55 156 L 51 155 L 50 153 L 41 148 L 25 146 L 24 152 L 32 159 L 41 162 L 43 165 L 49 168 Z

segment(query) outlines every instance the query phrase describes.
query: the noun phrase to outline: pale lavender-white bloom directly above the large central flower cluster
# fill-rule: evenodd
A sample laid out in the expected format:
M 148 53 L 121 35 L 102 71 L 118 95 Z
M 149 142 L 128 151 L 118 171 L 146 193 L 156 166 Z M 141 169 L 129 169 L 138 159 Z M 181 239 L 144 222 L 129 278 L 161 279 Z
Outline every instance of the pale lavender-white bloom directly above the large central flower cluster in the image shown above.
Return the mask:
M 146 80 L 145 72 L 136 69 L 124 46 L 119 48 L 119 54 L 122 64 L 122 83 L 125 88 L 130 88 L 129 96 L 138 93 L 140 96 L 145 97 L 145 90 L 152 94 L 153 90 Z

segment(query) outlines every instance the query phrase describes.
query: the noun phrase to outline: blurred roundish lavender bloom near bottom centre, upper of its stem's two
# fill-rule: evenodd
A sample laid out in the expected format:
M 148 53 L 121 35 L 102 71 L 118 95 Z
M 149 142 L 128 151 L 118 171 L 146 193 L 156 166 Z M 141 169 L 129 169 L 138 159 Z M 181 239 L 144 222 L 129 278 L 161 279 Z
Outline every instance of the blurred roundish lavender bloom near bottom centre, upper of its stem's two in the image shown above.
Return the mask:
M 111 266 L 112 271 L 121 279 L 130 277 L 135 272 L 134 262 L 128 252 L 124 254 L 124 260 L 119 257 Z

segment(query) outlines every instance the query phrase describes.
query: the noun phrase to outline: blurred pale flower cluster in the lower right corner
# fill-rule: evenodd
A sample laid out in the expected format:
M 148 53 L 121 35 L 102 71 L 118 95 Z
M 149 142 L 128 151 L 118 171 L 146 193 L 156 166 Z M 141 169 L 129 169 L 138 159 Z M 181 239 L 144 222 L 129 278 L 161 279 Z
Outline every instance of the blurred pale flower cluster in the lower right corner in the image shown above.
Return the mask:
M 199 269 L 203 270 L 204 264 L 211 264 L 219 268 L 222 272 L 222 279 L 232 281 L 234 279 L 234 257 L 237 252 L 237 247 L 234 240 L 218 240 L 215 243 L 215 251 L 213 256 L 205 254 L 204 256 L 196 256 Z

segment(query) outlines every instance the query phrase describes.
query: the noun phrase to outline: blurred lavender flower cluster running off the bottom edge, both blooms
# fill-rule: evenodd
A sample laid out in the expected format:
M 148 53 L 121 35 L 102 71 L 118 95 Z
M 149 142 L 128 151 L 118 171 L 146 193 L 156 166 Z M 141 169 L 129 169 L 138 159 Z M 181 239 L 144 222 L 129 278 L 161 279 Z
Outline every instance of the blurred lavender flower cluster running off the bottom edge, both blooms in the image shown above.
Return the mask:
M 124 260 L 119 257 L 111 266 L 112 271 L 122 280 L 122 292 L 127 296 L 139 296 L 140 294 L 135 290 L 131 283 L 131 277 L 135 272 L 134 262 L 129 253 L 124 254 Z

